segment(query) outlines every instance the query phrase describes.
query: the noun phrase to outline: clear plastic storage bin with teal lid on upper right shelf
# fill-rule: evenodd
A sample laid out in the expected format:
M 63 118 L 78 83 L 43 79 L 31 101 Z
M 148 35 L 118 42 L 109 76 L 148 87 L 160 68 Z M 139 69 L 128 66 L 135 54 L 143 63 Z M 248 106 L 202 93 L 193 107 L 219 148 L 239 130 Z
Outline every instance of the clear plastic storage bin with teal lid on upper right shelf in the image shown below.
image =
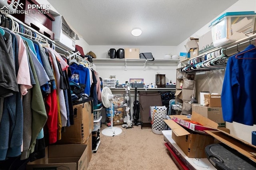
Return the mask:
M 214 47 L 221 47 L 253 34 L 251 32 L 254 31 L 255 16 L 254 11 L 226 12 L 214 20 L 209 26 Z

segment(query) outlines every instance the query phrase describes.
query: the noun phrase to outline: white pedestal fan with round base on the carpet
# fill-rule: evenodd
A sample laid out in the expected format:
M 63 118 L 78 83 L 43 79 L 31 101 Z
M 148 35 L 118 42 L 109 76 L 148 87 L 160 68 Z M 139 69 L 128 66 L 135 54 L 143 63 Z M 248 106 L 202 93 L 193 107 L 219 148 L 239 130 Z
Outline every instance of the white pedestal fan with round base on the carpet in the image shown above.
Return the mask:
M 121 128 L 118 128 L 118 127 L 113 127 L 113 97 L 114 95 L 112 94 L 110 88 L 108 87 L 104 87 L 102 89 L 102 92 L 101 92 L 101 99 L 102 99 L 102 104 L 105 106 L 105 107 L 111 107 L 111 127 L 107 127 L 107 128 L 104 128 L 102 130 L 102 134 L 106 135 L 106 136 L 116 136 L 118 134 L 121 134 L 122 133 L 122 129 Z

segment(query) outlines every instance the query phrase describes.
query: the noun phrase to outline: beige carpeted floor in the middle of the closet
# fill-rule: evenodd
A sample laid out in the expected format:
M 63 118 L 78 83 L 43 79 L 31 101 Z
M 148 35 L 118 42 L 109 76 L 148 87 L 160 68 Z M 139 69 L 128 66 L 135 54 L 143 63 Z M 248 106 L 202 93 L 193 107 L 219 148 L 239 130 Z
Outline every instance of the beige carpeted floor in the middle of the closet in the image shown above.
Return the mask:
M 121 126 L 115 126 L 120 127 Z M 102 129 L 106 125 L 102 125 Z M 178 170 L 164 146 L 164 136 L 151 128 L 122 128 L 122 135 L 104 136 L 92 153 L 88 170 Z

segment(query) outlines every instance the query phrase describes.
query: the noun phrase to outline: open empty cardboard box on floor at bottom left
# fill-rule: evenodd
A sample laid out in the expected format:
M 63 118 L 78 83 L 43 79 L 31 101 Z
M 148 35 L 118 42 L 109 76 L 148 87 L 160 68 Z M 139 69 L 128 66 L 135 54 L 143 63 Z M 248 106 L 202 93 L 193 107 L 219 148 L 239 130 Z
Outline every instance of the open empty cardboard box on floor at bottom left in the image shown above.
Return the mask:
M 86 144 L 50 145 L 45 149 L 45 157 L 28 162 L 26 170 L 86 170 Z

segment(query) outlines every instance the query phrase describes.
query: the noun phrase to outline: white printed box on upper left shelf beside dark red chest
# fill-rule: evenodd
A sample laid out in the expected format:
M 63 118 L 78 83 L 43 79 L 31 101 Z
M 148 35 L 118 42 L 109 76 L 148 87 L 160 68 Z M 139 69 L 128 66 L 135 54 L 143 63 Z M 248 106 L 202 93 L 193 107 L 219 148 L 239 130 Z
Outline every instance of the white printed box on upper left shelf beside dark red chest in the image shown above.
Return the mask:
M 54 41 L 64 47 L 67 47 L 71 51 L 75 51 L 76 33 L 70 29 L 63 16 L 56 16 L 54 19 L 55 21 L 52 22 Z

